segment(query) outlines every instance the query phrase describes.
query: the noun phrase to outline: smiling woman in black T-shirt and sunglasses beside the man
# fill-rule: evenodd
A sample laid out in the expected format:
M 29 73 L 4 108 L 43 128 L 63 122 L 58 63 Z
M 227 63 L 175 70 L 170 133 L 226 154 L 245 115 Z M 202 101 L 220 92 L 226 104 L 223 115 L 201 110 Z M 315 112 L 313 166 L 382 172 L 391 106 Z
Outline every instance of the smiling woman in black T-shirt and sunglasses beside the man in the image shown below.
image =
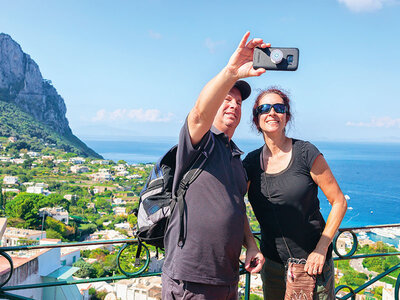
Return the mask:
M 253 123 L 265 144 L 243 161 L 266 258 L 261 271 L 264 299 L 284 298 L 290 257 L 306 259 L 305 271 L 317 275 L 314 299 L 334 299 L 331 242 L 347 203 L 318 149 L 286 136 L 291 119 L 286 93 L 277 88 L 262 91 L 254 104 Z M 318 187 L 332 205 L 326 224 L 319 211 Z

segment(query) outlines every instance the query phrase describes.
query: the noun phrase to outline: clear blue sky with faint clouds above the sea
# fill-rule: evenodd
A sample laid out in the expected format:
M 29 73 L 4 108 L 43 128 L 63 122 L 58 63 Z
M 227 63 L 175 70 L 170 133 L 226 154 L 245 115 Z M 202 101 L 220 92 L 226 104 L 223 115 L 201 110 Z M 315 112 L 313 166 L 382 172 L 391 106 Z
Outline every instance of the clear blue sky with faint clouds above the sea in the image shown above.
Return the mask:
M 288 135 L 400 142 L 400 1 L 0 0 L 9 34 L 52 81 L 75 135 L 176 137 L 202 87 L 246 31 L 300 50 L 295 72 L 249 78 L 234 138 L 251 128 L 257 92 L 290 94 Z

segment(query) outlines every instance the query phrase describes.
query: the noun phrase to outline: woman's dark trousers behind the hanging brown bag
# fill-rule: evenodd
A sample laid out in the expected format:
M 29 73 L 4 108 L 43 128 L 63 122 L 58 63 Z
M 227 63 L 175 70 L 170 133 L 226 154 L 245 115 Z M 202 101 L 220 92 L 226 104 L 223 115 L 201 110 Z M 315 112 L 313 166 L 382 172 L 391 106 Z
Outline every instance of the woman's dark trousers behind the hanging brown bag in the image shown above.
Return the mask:
M 261 270 L 264 299 L 283 300 L 285 298 L 285 266 L 267 259 Z M 335 299 L 335 270 L 333 260 L 328 259 L 322 274 L 317 276 L 313 300 Z

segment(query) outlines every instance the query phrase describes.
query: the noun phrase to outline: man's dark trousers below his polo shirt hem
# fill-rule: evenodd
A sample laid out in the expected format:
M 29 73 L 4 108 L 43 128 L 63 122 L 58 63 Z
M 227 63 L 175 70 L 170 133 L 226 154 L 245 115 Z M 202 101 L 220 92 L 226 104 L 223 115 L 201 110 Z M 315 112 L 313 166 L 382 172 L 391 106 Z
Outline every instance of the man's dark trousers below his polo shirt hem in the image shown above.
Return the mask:
M 238 285 L 212 285 L 175 280 L 162 274 L 163 300 L 237 300 Z

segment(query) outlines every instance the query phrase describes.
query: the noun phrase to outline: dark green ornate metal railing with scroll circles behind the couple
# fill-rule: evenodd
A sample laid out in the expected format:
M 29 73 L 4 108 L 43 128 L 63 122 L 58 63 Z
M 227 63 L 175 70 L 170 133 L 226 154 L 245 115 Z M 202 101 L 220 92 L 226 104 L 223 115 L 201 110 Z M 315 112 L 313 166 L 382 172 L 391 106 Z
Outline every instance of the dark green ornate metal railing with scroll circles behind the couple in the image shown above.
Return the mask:
M 334 257 L 335 261 L 339 260 L 348 260 L 348 259 L 359 259 L 359 258 L 368 258 L 368 257 L 381 257 L 381 256 L 391 256 L 397 255 L 400 256 L 400 252 L 390 252 L 390 253 L 374 253 L 374 254 L 358 254 L 356 255 L 357 248 L 359 245 L 358 237 L 356 232 L 358 230 L 371 230 L 373 228 L 389 228 L 389 227 L 400 227 L 400 224 L 391 224 L 391 225 L 379 225 L 379 226 L 366 226 L 366 227 L 352 227 L 352 228 L 341 228 L 336 235 L 333 241 L 333 248 L 336 254 Z M 340 249 L 338 249 L 337 243 L 340 240 L 340 236 L 344 233 L 350 234 L 352 237 L 353 245 L 349 252 L 341 253 Z M 255 236 L 259 239 L 260 233 L 254 233 Z M 89 278 L 89 279 L 77 279 L 77 280 L 58 280 L 56 282 L 42 282 L 35 284 L 24 284 L 24 285 L 7 285 L 14 274 L 14 263 L 12 256 L 10 256 L 7 252 L 10 251 L 22 251 L 22 250 L 35 250 L 35 249 L 54 249 L 54 248 L 63 248 L 63 247 L 83 247 L 83 246 L 92 246 L 92 245 L 122 245 L 117 255 L 117 267 L 123 275 L 117 276 L 107 276 L 100 278 Z M 29 299 L 26 297 L 22 297 L 19 295 L 15 295 L 11 293 L 11 291 L 16 290 L 24 290 L 24 289 L 34 289 L 34 288 L 46 288 L 46 287 L 55 287 L 55 286 L 63 286 L 63 285 L 74 285 L 80 283 L 91 283 L 91 282 L 99 282 L 99 281 L 117 281 L 121 279 L 130 279 L 130 278 L 138 278 L 138 277 L 150 277 L 150 276 L 159 276 L 160 272 L 148 272 L 148 266 L 150 263 L 150 251 L 148 247 L 143 245 L 140 255 L 132 255 L 137 253 L 137 244 L 138 241 L 136 239 L 123 239 L 123 240 L 109 240 L 109 241 L 88 241 L 88 242 L 77 242 L 77 243 L 59 243 L 59 244 L 51 244 L 51 245 L 25 245 L 25 246 L 14 246 L 14 247 L 0 247 L 0 255 L 3 256 L 9 263 L 10 269 L 8 271 L 8 276 L 3 282 L 0 282 L 0 297 L 5 299 Z M 132 263 L 132 266 L 128 269 L 124 269 L 123 264 L 121 262 L 126 261 L 129 257 L 129 261 Z M 382 272 L 381 274 L 376 275 L 374 278 L 368 280 L 363 285 L 353 289 L 347 285 L 339 285 L 335 289 L 336 298 L 337 299 L 355 299 L 355 295 L 370 287 L 376 281 L 388 276 L 395 270 L 400 269 L 400 264 L 397 264 L 390 269 Z M 245 291 L 244 298 L 250 299 L 250 280 L 251 275 L 244 269 L 243 264 L 240 267 L 240 274 L 245 275 Z M 395 300 L 399 300 L 399 287 L 400 287 L 400 274 L 396 279 L 395 284 Z M 348 290 L 347 294 L 343 294 L 344 290 Z

